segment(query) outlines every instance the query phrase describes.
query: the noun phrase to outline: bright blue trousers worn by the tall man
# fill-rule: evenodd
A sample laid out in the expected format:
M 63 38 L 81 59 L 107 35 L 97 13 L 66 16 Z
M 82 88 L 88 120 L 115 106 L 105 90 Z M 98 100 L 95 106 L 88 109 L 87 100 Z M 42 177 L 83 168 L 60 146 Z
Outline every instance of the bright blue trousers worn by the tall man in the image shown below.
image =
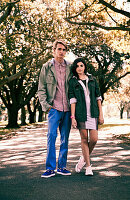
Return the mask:
M 57 129 L 60 131 L 60 151 L 58 158 L 58 168 L 66 167 L 68 153 L 68 138 L 71 128 L 70 112 L 61 112 L 51 108 L 48 113 L 48 134 L 47 134 L 47 158 L 46 169 L 56 169 L 56 149 Z

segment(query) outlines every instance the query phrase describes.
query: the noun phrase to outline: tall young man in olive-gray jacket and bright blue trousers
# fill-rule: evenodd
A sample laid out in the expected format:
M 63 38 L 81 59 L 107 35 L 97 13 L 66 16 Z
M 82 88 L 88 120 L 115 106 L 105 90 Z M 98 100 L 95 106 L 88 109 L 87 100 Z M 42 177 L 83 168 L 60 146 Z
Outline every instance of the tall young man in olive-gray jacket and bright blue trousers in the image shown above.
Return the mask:
M 53 43 L 54 58 L 45 63 L 41 69 L 38 86 L 39 101 L 43 111 L 48 111 L 46 172 L 41 177 L 55 175 L 57 129 L 60 131 L 60 151 L 57 173 L 71 175 L 66 169 L 68 138 L 71 128 L 68 100 L 68 81 L 70 64 L 64 60 L 67 45 L 63 40 Z

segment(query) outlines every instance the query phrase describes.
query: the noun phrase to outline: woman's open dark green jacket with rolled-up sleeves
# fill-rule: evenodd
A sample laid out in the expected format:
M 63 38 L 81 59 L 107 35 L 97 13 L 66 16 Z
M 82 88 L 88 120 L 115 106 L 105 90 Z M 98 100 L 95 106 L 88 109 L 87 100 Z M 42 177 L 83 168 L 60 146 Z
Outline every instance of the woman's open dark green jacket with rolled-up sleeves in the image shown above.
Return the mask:
M 88 89 L 90 92 L 90 111 L 91 117 L 98 118 L 99 109 L 97 104 L 97 97 L 101 96 L 98 83 L 96 78 L 92 75 L 88 75 Z M 87 121 L 87 109 L 85 102 L 84 90 L 81 84 L 78 82 L 76 77 L 73 77 L 69 81 L 69 99 L 75 98 L 76 109 L 75 109 L 75 118 L 78 122 Z

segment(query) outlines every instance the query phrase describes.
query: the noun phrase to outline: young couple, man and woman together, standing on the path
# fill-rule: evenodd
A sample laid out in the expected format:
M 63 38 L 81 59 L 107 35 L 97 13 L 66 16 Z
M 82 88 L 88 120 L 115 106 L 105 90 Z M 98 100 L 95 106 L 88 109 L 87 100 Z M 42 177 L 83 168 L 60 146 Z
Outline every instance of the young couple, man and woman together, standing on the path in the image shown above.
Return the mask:
M 58 127 L 61 144 L 57 173 L 71 175 L 66 169 L 71 124 L 79 129 L 83 154 L 75 171 L 80 172 L 86 165 L 85 175 L 93 175 L 90 154 L 98 139 L 98 123 L 104 121 L 96 79 L 87 73 L 87 65 L 82 58 L 77 58 L 72 65 L 64 60 L 66 52 L 65 41 L 56 40 L 53 43 L 54 58 L 43 65 L 39 77 L 39 101 L 42 110 L 48 111 L 46 171 L 41 175 L 44 178 L 55 176 Z

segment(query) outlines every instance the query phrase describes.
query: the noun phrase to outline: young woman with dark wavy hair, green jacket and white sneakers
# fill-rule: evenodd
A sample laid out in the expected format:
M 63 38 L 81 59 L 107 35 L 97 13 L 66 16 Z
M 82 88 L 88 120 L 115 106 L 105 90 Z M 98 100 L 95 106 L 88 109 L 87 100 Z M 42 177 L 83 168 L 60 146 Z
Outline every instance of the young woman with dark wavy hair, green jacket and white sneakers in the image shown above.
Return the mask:
M 85 175 L 93 175 L 90 154 L 98 139 L 98 123 L 104 123 L 102 98 L 95 77 L 87 73 L 87 65 L 83 58 L 77 58 L 73 62 L 72 73 L 73 78 L 69 81 L 71 119 L 72 126 L 79 129 L 83 154 L 75 167 L 75 171 L 80 172 L 86 164 Z

